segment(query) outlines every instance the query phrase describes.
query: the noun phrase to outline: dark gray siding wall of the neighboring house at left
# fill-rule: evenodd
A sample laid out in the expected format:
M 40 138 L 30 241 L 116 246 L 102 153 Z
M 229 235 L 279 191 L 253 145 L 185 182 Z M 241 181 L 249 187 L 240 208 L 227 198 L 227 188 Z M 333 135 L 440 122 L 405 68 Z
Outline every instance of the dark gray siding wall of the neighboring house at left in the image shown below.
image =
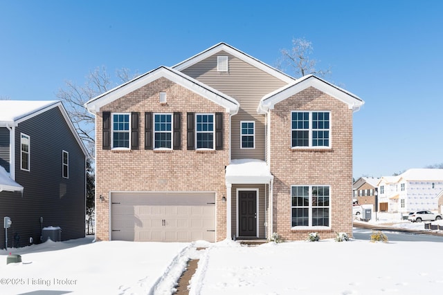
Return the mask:
M 20 133 L 30 136 L 30 171 L 20 169 Z M 69 178 L 62 175 L 62 151 L 69 152 Z M 19 247 L 38 243 L 42 227 L 61 227 L 62 240 L 84 237 L 85 156 L 59 108 L 19 123 L 15 132 L 15 181 L 21 193 L 0 193 L 0 216 L 12 220 L 8 247 L 19 235 Z M 0 235 L 4 248 L 4 235 Z

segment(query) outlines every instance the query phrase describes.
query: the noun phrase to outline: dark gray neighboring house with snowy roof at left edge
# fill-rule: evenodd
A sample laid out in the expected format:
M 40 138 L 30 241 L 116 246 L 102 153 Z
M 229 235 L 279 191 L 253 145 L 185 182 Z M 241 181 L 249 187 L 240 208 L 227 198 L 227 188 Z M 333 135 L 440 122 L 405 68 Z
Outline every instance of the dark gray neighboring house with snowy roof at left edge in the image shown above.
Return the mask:
M 61 102 L 0 100 L 0 217 L 12 221 L 8 247 L 39 243 L 51 226 L 62 229 L 62 240 L 84 237 L 86 155 Z

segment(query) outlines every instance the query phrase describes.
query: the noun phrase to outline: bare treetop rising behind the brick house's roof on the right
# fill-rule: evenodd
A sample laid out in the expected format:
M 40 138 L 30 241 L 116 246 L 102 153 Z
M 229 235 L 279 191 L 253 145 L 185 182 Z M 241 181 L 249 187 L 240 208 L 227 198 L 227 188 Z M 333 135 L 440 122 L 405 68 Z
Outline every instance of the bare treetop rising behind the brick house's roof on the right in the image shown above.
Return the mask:
M 311 41 L 304 38 L 293 38 L 291 49 L 282 49 L 280 53 L 282 57 L 278 60 L 277 68 L 286 72 L 290 68 L 289 73 L 293 76 L 303 77 L 305 75 L 313 74 L 320 77 L 325 77 L 331 73 L 330 68 L 326 70 L 317 70 L 317 60 L 311 58 L 314 48 Z

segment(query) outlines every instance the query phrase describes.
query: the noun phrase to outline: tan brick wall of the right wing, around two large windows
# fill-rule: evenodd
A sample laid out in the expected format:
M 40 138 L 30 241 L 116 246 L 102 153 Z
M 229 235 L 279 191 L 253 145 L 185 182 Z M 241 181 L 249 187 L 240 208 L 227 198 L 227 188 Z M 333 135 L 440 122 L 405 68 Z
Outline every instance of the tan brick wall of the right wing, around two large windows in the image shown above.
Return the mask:
M 332 149 L 291 149 L 291 111 L 298 110 L 331 112 Z M 352 110 L 338 99 L 309 87 L 275 104 L 270 136 L 273 231 L 286 240 L 304 240 L 313 231 L 322 239 L 334 238 L 336 232 L 352 235 Z M 291 185 L 330 186 L 330 229 L 291 229 Z

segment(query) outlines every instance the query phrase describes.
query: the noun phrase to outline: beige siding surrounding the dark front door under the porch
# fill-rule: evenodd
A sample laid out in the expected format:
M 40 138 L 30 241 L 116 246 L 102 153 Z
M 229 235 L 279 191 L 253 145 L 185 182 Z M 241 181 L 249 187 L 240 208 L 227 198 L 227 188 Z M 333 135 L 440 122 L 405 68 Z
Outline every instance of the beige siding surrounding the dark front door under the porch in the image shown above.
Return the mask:
M 230 232 L 237 234 L 237 189 L 258 189 L 258 238 L 266 238 L 264 222 L 266 222 L 265 207 L 266 207 L 266 186 L 265 184 L 233 184 L 231 188 L 231 230 Z

